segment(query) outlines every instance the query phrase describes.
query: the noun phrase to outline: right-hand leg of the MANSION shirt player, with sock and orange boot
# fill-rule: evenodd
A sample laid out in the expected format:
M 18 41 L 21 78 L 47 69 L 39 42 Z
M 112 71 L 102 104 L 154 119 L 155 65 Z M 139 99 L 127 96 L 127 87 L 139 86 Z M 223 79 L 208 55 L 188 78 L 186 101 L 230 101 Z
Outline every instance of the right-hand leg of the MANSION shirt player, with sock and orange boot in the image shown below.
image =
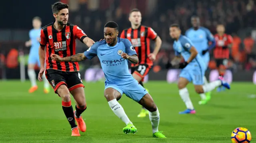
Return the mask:
M 76 110 L 74 111 L 74 116 L 76 122 L 78 124 L 78 128 L 80 131 L 86 131 L 86 124 L 84 119 L 82 118 L 81 114 L 86 110 L 86 101 L 84 95 L 84 88 L 78 87 L 70 92 L 74 99 L 76 100 Z

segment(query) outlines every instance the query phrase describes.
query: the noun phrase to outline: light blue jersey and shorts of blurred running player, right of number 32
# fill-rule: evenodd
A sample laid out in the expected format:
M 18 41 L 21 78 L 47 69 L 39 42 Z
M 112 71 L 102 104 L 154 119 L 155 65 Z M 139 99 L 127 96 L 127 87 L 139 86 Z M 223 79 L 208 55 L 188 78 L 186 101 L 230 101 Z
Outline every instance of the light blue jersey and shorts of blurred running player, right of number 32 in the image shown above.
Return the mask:
M 180 35 L 178 41 L 174 41 L 173 49 L 175 55 L 182 55 L 185 61 L 188 61 L 190 57 L 190 49 L 194 47 L 190 39 L 184 35 Z M 200 56 L 197 54 L 196 57 L 180 72 L 180 77 L 186 78 L 188 81 L 193 81 L 195 85 L 204 84 L 204 73 L 206 67 L 205 63 Z

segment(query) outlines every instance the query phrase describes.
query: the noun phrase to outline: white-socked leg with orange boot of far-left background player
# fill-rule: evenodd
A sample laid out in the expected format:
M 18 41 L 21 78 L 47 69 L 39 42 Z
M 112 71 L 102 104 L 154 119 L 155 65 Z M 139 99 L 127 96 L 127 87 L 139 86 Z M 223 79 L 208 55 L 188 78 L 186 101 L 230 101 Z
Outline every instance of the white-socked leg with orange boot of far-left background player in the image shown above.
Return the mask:
M 35 64 L 28 64 L 28 78 L 31 82 L 31 87 L 28 90 L 29 93 L 35 92 L 38 89 L 36 84 L 36 72 L 34 70 Z

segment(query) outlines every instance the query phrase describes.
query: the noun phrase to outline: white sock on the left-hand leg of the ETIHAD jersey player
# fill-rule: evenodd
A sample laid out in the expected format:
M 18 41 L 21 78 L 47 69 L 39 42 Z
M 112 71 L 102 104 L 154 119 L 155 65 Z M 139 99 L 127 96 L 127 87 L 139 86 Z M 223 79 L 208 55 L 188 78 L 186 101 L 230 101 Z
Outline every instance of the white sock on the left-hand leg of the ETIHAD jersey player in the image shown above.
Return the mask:
M 118 118 L 120 118 L 126 125 L 128 125 L 128 123 L 132 123 L 125 114 L 124 108 L 116 101 L 116 99 L 109 101 L 108 105 L 110 106 L 114 114 L 116 114 L 116 116 L 118 116 Z

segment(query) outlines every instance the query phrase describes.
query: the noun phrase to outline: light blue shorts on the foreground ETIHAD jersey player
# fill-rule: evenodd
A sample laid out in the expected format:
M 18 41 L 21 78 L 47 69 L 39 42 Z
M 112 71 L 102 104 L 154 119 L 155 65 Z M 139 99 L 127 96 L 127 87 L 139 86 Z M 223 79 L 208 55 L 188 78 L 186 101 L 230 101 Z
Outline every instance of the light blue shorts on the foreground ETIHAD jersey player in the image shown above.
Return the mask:
M 107 88 L 114 88 L 115 90 L 120 92 L 121 95 L 124 93 L 127 97 L 131 98 L 136 102 L 139 102 L 141 98 L 148 93 L 146 89 L 143 86 L 141 86 L 135 79 L 134 81 L 129 82 L 127 84 L 122 83 L 122 85 L 105 82 L 105 90 Z

